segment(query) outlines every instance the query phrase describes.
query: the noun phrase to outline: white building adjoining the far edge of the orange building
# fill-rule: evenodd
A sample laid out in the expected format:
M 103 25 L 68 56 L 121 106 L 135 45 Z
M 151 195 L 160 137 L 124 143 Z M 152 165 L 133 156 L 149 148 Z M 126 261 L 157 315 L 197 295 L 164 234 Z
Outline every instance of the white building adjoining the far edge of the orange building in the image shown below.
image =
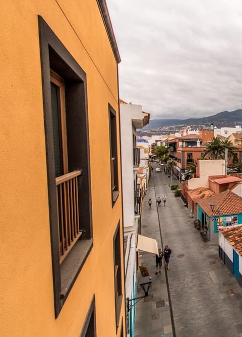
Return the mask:
M 125 284 L 126 297 L 137 294 L 136 251 L 137 233 L 141 216 L 142 199 L 148 174 L 148 143 L 137 143 L 137 129 L 149 123 L 150 114 L 138 104 L 120 100 L 120 128 L 122 148 L 122 180 L 124 205 Z M 137 145 L 138 144 L 138 145 Z M 146 145 L 147 144 L 147 145 Z M 140 167 L 142 164 L 142 167 Z M 134 336 L 135 308 L 128 310 L 127 335 Z

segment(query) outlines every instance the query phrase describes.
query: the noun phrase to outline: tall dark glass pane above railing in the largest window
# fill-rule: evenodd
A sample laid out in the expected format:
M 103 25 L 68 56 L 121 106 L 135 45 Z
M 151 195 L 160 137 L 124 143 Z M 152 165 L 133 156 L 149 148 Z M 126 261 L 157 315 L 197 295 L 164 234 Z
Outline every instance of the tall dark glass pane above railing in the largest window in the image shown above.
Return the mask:
M 63 175 L 61 116 L 59 111 L 59 88 L 51 83 L 51 109 L 53 122 L 53 145 L 55 177 Z

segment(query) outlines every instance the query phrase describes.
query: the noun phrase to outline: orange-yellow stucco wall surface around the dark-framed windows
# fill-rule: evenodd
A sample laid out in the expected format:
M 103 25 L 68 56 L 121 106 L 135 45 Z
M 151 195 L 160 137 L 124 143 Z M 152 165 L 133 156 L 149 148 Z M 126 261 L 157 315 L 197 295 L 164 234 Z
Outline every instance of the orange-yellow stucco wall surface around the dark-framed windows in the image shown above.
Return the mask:
M 111 208 L 108 103 L 118 113 L 117 70 L 97 3 L 3 0 L 0 9 L 0 334 L 78 336 L 95 293 L 97 335 L 113 336 L 112 238 L 119 220 L 122 230 L 122 204 L 119 195 Z M 94 247 L 57 319 L 38 15 L 87 74 Z

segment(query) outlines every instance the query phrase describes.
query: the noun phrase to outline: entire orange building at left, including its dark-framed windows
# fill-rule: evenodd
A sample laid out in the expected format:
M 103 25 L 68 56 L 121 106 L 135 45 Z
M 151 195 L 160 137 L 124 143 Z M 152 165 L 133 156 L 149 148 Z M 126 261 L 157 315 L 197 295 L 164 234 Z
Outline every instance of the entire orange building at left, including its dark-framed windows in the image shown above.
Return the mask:
M 0 8 L 0 334 L 124 337 L 120 56 L 106 3 Z

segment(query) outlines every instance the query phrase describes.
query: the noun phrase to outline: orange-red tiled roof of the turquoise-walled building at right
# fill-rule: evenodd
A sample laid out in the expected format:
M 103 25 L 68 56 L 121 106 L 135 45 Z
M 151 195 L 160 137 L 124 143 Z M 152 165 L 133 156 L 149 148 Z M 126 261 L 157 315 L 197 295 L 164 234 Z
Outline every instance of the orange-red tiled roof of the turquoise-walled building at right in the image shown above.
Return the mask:
M 198 205 L 210 217 L 217 216 L 218 210 L 220 215 L 242 213 L 242 197 L 231 192 L 229 189 L 205 199 L 199 199 Z M 215 205 L 213 212 L 211 211 L 210 205 Z

